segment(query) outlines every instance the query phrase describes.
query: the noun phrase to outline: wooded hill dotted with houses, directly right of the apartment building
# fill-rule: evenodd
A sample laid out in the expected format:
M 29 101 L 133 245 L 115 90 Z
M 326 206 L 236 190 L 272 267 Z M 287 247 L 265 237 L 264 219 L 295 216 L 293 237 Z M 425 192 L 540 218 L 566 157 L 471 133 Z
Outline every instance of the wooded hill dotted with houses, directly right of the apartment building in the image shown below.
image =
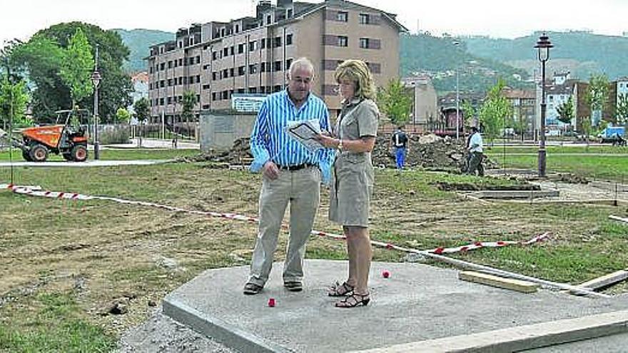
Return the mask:
M 513 88 L 532 87 L 526 82 L 530 76 L 522 68 L 515 68 L 490 58 L 475 56 L 467 51 L 467 44 L 460 41 L 456 46 L 451 37 L 435 37 L 430 34 L 402 34 L 400 41 L 400 66 L 402 76 L 426 74 L 439 93 L 455 91 L 458 68 L 460 91 L 482 93 L 495 85 L 497 78 L 504 78 Z

